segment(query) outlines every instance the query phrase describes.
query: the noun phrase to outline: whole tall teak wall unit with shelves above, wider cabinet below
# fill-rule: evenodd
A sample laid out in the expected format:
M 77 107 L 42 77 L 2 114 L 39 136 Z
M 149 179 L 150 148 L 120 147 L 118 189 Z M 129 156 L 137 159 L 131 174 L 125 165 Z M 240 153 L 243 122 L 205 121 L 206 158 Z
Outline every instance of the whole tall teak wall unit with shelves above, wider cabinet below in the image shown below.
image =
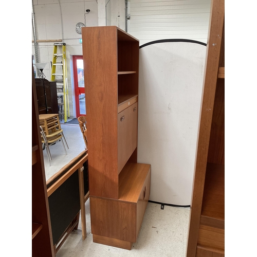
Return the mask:
M 139 41 L 116 26 L 82 28 L 93 241 L 131 249 L 150 196 L 137 163 Z

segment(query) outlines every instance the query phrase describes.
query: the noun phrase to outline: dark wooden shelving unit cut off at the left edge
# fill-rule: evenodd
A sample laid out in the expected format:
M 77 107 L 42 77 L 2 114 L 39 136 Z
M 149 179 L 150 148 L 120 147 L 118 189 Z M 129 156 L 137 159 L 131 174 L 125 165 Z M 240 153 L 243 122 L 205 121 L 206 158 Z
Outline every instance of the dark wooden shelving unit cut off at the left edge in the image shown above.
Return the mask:
M 32 256 L 54 256 L 32 65 Z

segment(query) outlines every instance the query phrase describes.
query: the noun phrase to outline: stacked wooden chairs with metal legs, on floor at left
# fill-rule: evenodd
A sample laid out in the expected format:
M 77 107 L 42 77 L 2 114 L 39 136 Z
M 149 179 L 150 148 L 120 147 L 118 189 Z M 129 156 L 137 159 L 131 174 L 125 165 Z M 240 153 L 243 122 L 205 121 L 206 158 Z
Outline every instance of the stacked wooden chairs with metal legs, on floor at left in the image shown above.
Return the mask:
M 49 165 L 51 166 L 50 160 L 52 160 L 52 157 L 49 146 L 58 141 L 62 141 L 65 154 L 67 154 L 67 151 L 63 142 L 63 138 L 68 149 L 69 146 L 61 128 L 59 114 L 41 114 L 39 115 L 39 121 L 41 129 L 41 140 L 42 143 L 45 145 Z

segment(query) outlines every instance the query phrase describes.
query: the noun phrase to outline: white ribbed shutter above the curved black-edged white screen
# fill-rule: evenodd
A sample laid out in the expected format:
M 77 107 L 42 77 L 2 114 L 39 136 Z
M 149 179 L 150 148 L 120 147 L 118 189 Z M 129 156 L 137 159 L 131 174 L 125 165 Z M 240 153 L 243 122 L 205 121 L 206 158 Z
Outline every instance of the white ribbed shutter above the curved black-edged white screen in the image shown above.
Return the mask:
M 140 45 L 160 39 L 207 43 L 211 0 L 128 0 L 128 33 Z

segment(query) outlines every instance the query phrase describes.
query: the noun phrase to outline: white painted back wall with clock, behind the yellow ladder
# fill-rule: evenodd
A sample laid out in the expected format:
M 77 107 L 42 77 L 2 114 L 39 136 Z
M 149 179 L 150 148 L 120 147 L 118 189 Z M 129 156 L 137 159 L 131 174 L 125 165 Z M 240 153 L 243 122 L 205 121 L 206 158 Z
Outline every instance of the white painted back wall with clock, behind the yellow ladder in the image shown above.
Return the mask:
M 66 43 L 67 78 L 69 93 L 70 117 L 74 117 L 74 102 L 72 101 L 72 73 L 70 72 L 71 56 L 82 55 L 81 35 L 75 30 L 78 22 L 88 26 L 98 26 L 98 6 L 95 0 L 33 0 L 36 39 L 59 40 Z M 86 9 L 90 12 L 86 15 Z M 33 40 L 33 28 L 32 28 Z M 48 63 L 44 69 L 46 79 L 50 80 L 53 44 L 38 43 L 39 62 Z M 35 53 L 32 43 L 32 54 Z

